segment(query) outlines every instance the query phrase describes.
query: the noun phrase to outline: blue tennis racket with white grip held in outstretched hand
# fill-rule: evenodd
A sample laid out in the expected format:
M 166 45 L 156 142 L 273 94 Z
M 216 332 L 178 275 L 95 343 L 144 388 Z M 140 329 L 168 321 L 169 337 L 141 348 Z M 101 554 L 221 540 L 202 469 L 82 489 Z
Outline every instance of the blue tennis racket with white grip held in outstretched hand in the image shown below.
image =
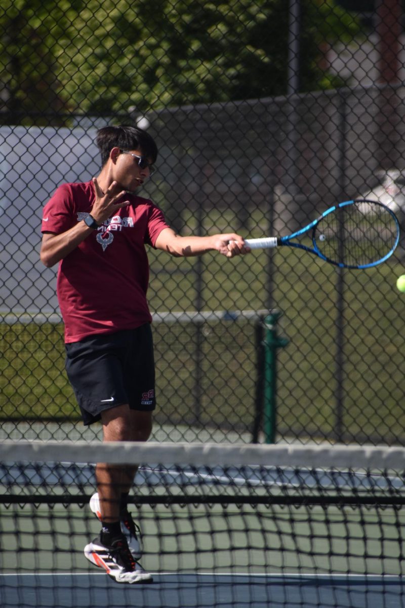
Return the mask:
M 312 240 L 312 247 L 296 241 Z M 250 238 L 251 249 L 299 247 L 340 268 L 371 268 L 395 251 L 400 240 L 400 224 L 381 202 L 358 199 L 330 207 L 313 222 L 287 237 Z

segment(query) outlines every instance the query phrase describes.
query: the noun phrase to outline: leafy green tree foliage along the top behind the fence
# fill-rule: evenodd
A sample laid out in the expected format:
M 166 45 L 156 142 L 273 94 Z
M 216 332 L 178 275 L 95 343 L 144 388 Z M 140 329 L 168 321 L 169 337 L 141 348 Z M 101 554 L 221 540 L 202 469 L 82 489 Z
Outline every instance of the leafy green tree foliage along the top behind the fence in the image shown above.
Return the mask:
M 322 71 L 319 49 L 324 41 L 352 38 L 358 24 L 334 0 L 300 4 L 300 88 L 339 86 Z M 6 0 L 3 114 L 111 114 L 285 94 L 288 5 Z

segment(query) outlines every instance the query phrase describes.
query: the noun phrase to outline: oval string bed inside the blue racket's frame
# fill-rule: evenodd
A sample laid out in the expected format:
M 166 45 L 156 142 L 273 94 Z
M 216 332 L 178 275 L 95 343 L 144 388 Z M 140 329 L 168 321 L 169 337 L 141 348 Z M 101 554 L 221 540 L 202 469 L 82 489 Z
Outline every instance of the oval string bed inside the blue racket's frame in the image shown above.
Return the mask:
M 396 246 L 398 225 L 389 209 L 373 201 L 336 207 L 314 229 L 319 253 L 344 266 L 366 266 L 382 260 Z

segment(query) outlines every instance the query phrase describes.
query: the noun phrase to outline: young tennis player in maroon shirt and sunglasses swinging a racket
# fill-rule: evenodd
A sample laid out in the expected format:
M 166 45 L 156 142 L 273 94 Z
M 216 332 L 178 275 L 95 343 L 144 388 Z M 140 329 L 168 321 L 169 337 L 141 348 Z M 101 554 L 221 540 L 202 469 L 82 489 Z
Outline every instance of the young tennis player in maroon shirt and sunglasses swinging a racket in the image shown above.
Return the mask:
M 231 258 L 247 249 L 233 233 L 180 237 L 152 201 L 135 194 L 157 158 L 148 133 L 107 126 L 97 145 L 98 177 L 61 185 L 44 207 L 41 261 L 59 263 L 66 371 L 84 424 L 101 420 L 104 441 L 146 441 L 155 371 L 145 244 L 175 256 L 217 250 Z M 137 562 L 137 528 L 127 508 L 135 472 L 135 466 L 99 463 L 90 503 L 102 528 L 84 553 L 118 582 L 151 580 Z

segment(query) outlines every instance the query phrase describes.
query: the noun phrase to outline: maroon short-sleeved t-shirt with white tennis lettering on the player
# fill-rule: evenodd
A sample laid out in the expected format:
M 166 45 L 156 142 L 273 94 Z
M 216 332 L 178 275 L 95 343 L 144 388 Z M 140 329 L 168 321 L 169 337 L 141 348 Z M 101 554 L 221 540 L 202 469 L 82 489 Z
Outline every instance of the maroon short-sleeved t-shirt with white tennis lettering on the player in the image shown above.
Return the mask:
M 127 207 L 117 209 L 60 261 L 56 290 L 65 342 L 135 329 L 152 320 L 146 300 L 149 264 L 145 244 L 154 246 L 168 224 L 152 201 L 126 197 Z M 44 207 L 42 232 L 66 232 L 91 212 L 94 199 L 91 181 L 61 185 Z

